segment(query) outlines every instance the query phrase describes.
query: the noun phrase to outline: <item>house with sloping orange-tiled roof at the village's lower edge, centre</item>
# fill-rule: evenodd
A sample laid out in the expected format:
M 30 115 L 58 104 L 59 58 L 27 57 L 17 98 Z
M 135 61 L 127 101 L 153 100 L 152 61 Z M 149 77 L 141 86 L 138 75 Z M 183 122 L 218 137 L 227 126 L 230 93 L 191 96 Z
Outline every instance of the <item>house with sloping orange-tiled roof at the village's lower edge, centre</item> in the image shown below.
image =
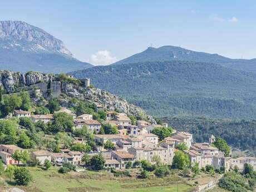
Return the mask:
M 135 156 L 129 154 L 129 152 L 127 151 L 112 151 L 111 157 L 112 159 L 115 159 L 121 163 L 121 169 L 125 169 L 129 161 L 131 161 L 132 165 L 134 164 L 135 161 Z

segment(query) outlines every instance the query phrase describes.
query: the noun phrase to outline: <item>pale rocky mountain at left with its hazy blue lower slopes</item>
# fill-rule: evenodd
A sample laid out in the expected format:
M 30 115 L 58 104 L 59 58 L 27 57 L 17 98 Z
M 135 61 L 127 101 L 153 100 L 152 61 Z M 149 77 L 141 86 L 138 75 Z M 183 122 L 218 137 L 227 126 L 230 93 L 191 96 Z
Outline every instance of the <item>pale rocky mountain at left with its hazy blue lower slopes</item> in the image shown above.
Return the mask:
M 0 21 L 0 70 L 61 73 L 92 67 L 61 40 L 23 21 Z

